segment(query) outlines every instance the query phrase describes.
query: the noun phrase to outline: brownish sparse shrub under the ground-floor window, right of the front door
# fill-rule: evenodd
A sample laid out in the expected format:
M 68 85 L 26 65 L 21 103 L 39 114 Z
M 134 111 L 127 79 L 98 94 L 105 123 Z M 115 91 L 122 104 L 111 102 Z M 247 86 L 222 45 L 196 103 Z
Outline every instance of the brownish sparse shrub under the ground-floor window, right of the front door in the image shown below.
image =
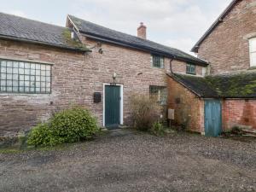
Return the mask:
M 135 128 L 150 131 L 160 117 L 160 105 L 154 98 L 144 95 L 131 96 L 131 118 Z

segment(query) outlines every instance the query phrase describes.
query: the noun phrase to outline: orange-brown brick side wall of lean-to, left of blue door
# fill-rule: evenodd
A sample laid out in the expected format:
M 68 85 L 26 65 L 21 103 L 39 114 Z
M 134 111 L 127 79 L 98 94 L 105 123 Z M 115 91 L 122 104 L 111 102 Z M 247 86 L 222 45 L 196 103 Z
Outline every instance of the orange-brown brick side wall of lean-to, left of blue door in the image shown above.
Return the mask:
M 168 90 L 168 108 L 175 109 L 174 124 L 204 132 L 204 101 L 172 78 L 168 79 Z

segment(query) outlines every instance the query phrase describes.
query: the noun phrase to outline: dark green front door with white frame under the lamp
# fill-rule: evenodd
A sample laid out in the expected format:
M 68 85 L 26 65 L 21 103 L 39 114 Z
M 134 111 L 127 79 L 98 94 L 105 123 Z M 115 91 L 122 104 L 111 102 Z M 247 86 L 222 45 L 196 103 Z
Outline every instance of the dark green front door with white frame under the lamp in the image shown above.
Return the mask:
M 120 125 L 120 86 L 105 86 L 105 126 L 109 129 Z

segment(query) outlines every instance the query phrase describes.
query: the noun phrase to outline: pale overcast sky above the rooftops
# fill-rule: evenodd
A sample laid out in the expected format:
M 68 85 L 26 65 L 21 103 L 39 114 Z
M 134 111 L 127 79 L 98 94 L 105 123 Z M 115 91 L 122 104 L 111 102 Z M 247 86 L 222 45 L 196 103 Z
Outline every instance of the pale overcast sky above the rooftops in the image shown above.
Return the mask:
M 141 21 L 148 39 L 186 52 L 231 0 L 8 0 L 0 11 L 65 26 L 67 14 L 137 35 Z

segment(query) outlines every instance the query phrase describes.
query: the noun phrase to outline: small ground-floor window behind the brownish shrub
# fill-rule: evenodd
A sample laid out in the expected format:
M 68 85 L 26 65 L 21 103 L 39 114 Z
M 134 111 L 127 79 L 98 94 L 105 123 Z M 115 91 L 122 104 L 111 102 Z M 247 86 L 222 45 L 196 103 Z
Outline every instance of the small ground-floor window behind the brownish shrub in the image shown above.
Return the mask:
M 150 96 L 154 96 L 161 105 L 165 105 L 167 101 L 167 90 L 165 86 L 149 86 Z

